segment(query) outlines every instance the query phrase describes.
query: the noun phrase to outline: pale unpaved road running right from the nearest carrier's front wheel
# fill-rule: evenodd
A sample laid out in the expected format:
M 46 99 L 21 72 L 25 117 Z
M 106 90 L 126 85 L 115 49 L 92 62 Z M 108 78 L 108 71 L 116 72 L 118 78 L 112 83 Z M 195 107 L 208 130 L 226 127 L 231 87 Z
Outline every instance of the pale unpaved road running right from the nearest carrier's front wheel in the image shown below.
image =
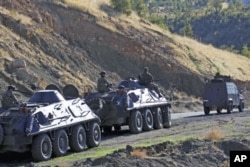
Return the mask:
M 203 112 L 189 112 L 189 113 L 177 113 L 172 114 L 172 127 L 169 129 L 152 130 L 149 132 L 140 133 L 137 135 L 130 134 L 128 130 L 123 130 L 118 134 L 104 135 L 101 145 L 112 147 L 126 147 L 126 145 L 138 145 L 145 139 L 157 141 L 163 137 L 169 137 L 171 140 L 180 140 L 188 137 L 201 138 L 212 129 L 218 129 L 221 133 L 225 133 L 227 136 L 226 126 L 232 126 L 232 129 L 237 132 L 240 126 L 250 119 L 250 112 L 246 110 L 244 113 L 239 113 L 237 110 L 231 114 L 226 112 L 222 114 L 216 114 L 212 112 L 209 116 L 205 116 Z M 233 127 L 235 125 L 235 127 Z M 250 128 L 248 126 L 241 127 L 245 130 Z M 231 134 L 231 133 L 230 133 Z M 246 134 L 248 135 L 248 134 Z

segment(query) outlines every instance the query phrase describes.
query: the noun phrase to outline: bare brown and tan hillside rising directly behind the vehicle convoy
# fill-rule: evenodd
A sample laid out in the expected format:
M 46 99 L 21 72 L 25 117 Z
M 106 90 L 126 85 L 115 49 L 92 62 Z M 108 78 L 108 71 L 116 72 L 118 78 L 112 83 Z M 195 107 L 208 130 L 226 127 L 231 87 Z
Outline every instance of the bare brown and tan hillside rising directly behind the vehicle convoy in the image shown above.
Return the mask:
M 95 90 L 101 70 L 116 84 L 137 77 L 144 66 L 161 79 L 158 84 L 166 94 L 175 84 L 200 97 L 204 77 L 216 72 L 247 88 L 246 57 L 171 34 L 135 14 L 116 13 L 107 0 L 63 2 L 0 0 L 2 88 L 15 84 L 31 91 L 31 83 L 40 88 L 70 83 L 83 93 L 86 86 Z

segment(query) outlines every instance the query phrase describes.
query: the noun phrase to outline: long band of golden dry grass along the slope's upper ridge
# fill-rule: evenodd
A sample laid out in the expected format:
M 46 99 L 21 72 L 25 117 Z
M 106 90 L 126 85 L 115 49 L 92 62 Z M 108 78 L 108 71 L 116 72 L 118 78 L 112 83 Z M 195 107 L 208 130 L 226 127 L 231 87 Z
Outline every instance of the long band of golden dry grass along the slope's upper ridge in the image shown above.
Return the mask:
M 197 74 L 214 75 L 216 72 L 220 72 L 223 75 L 230 75 L 234 79 L 250 80 L 250 61 L 242 55 L 216 49 L 211 45 L 202 44 L 200 41 L 194 39 L 170 34 L 168 31 L 164 31 L 153 24 L 143 24 L 140 18 L 134 13 L 130 16 L 112 15 L 109 13 L 108 16 L 107 13 L 100 10 L 101 5 L 109 5 L 108 0 L 86 0 L 84 2 L 80 2 L 79 0 L 65 0 L 65 3 L 95 15 L 98 18 L 97 22 L 99 25 L 114 32 L 119 32 L 119 30 L 110 24 L 110 21 L 107 21 L 108 18 L 111 18 L 113 22 L 119 22 L 124 28 L 132 26 L 149 34 L 152 33 L 152 35 L 154 35 L 154 31 L 164 33 L 175 40 L 176 45 L 166 44 L 171 45 L 176 52 L 175 55 L 178 55 L 174 56 L 174 58 L 181 65 L 184 65 Z

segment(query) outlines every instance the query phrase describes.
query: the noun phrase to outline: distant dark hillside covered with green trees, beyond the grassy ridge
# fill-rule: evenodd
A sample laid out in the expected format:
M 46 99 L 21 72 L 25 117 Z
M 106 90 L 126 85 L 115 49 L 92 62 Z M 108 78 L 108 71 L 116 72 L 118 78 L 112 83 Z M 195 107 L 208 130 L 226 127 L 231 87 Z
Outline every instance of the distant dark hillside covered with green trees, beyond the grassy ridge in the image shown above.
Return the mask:
M 173 33 L 249 56 L 248 0 L 151 0 L 147 6 Z

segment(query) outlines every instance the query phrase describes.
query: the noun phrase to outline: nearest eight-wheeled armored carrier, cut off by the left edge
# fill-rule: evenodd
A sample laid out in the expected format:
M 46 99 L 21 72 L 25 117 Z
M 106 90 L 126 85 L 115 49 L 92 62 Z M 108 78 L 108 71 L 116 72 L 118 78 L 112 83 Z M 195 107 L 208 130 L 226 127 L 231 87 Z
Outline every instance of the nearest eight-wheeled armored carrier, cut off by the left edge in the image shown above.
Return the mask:
M 1 109 L 0 153 L 31 152 L 34 161 L 44 161 L 80 152 L 100 144 L 99 124 L 83 99 L 39 90 L 20 107 Z

